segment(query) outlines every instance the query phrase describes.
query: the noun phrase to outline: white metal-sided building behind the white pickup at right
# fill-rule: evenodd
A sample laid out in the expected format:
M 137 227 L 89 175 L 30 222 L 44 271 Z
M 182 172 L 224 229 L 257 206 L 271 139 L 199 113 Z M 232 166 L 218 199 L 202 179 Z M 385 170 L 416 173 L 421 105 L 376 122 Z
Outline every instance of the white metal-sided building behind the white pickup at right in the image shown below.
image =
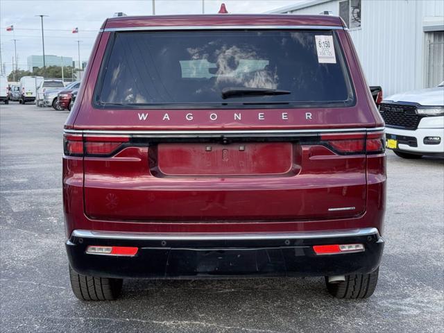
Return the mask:
M 368 84 L 384 96 L 444 80 L 442 0 L 309 0 L 271 12 L 342 17 Z

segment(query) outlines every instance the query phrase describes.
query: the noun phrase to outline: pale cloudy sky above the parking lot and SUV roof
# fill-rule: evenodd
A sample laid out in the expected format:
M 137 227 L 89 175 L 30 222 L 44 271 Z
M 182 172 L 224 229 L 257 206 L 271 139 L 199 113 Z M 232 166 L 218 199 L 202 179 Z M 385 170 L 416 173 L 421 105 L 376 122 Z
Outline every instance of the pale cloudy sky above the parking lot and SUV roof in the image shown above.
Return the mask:
M 205 0 L 205 13 L 216 13 L 224 2 L 231 13 L 261 13 L 275 8 L 293 5 L 305 0 Z M 26 69 L 26 58 L 42 54 L 40 17 L 44 17 L 45 54 L 72 57 L 78 60 L 77 40 L 80 42 L 80 58 L 87 60 L 97 31 L 107 17 L 114 12 L 127 15 L 151 15 L 151 0 L 0 0 L 1 61 L 6 72 L 12 69 L 14 42 L 17 40 L 19 68 Z M 202 0 L 155 0 L 156 15 L 200 14 Z M 14 32 L 6 31 L 13 25 Z M 78 28 L 79 33 L 72 30 Z

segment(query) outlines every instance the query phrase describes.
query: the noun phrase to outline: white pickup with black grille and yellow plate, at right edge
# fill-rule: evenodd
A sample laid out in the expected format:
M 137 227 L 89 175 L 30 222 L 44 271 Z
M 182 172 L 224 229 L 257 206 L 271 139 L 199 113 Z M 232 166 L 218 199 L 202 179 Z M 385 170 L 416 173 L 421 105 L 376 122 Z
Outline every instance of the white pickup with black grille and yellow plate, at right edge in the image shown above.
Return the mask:
M 379 112 L 386 122 L 386 146 L 396 155 L 444 156 L 444 82 L 388 96 Z

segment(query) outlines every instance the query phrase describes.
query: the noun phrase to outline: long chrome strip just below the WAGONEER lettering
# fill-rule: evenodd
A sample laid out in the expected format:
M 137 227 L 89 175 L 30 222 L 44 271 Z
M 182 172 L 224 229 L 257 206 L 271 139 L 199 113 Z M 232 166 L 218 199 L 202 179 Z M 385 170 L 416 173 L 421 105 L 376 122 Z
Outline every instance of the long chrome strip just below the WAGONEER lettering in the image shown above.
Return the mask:
M 318 130 L 64 130 L 66 134 L 84 135 L 133 135 L 133 137 L 219 137 L 221 135 L 308 135 L 316 133 L 355 133 L 377 132 L 384 127 L 375 128 L 328 128 Z

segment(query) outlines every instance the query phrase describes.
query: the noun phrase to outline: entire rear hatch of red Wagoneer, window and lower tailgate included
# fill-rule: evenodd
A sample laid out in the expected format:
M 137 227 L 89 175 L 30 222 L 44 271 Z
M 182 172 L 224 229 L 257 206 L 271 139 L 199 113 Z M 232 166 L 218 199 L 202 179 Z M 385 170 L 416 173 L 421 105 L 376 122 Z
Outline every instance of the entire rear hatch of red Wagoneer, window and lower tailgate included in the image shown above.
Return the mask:
M 371 140 L 356 124 L 373 119 L 355 96 L 340 35 L 105 35 L 93 105 L 82 103 L 76 119 L 89 130 L 65 142 L 85 155 L 85 214 L 178 222 L 363 214 Z

